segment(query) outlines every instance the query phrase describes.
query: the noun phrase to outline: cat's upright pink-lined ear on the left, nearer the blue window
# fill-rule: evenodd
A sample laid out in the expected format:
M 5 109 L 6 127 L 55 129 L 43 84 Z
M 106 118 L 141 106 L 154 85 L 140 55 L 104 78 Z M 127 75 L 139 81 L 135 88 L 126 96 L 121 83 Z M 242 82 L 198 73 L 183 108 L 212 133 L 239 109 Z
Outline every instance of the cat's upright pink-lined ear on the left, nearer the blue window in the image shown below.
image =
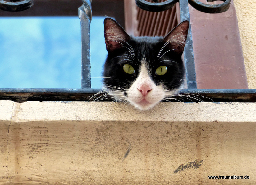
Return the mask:
M 108 53 L 123 47 L 130 40 L 124 29 L 111 18 L 104 20 L 104 37 Z

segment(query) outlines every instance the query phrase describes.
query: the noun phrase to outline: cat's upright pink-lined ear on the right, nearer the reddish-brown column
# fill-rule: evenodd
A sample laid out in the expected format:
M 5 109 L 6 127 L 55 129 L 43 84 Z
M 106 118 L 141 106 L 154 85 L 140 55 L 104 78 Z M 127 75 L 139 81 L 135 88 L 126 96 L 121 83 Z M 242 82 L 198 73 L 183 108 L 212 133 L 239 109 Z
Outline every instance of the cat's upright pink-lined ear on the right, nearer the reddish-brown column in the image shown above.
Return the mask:
M 172 29 L 172 31 L 164 37 L 164 42 L 173 49 L 174 52 L 182 54 L 184 51 L 187 35 L 189 29 L 189 22 L 187 20 L 180 23 Z

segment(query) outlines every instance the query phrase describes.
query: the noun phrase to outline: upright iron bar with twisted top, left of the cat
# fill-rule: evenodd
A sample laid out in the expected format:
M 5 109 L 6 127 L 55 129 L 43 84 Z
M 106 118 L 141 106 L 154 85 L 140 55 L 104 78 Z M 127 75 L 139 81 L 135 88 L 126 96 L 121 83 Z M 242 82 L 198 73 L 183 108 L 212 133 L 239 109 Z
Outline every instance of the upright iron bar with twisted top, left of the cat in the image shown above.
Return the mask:
M 90 24 L 92 21 L 92 0 L 82 0 L 78 8 L 81 23 L 81 88 L 91 88 Z

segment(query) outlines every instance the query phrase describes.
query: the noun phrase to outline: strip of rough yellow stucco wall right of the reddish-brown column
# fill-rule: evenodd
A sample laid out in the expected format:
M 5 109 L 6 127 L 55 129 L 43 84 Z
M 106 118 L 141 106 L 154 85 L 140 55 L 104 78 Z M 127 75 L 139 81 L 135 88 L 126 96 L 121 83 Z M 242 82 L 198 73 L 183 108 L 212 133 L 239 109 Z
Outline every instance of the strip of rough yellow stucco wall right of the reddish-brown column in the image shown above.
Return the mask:
M 256 89 L 256 1 L 234 0 L 249 89 Z

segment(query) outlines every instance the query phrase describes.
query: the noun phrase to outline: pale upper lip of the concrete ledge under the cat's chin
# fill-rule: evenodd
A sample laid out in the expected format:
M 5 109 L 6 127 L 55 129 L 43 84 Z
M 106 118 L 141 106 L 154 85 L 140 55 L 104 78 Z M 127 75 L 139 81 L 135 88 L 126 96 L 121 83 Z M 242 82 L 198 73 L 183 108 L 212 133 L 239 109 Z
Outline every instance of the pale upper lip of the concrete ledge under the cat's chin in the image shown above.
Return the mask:
M 228 121 L 254 122 L 255 103 L 162 103 L 149 111 L 116 102 L 5 102 L 13 122 L 30 121 Z M 8 102 L 8 103 L 6 103 Z M 8 117 L 9 116 L 9 117 Z

